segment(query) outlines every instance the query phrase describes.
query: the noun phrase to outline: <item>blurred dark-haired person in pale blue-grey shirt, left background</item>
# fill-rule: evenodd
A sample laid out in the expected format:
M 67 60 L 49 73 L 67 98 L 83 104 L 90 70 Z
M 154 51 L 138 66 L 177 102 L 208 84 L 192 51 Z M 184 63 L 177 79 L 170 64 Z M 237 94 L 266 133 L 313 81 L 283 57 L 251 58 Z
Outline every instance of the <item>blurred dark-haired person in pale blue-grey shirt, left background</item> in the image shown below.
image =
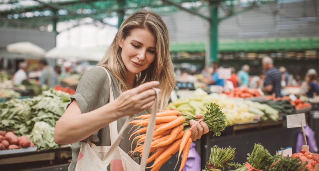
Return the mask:
M 54 85 L 60 85 L 56 71 L 53 69 L 53 67 L 48 66 L 47 60 L 41 59 L 39 63 L 42 70 L 41 77 L 39 79 L 39 85 L 47 85 L 50 88 L 54 87 Z

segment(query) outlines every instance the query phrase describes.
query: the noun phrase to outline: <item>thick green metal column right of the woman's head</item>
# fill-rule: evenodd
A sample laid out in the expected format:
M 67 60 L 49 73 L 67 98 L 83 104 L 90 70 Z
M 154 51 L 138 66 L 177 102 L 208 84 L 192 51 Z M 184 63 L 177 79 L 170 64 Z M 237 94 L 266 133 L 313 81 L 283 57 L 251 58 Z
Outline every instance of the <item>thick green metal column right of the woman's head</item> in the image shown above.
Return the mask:
M 209 47 L 210 47 L 210 62 L 218 60 L 218 3 L 210 1 L 210 28 L 209 28 Z

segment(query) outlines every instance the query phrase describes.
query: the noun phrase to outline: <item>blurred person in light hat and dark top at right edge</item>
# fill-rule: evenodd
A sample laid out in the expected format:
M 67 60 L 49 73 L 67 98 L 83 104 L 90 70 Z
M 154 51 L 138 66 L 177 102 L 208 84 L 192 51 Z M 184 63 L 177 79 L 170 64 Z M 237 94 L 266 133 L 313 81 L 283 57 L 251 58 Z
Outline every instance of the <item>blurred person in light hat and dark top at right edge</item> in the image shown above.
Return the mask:
M 319 95 L 319 86 L 317 79 L 317 71 L 313 68 L 309 69 L 306 73 L 306 82 L 308 83 L 307 96 L 313 98 L 314 94 Z

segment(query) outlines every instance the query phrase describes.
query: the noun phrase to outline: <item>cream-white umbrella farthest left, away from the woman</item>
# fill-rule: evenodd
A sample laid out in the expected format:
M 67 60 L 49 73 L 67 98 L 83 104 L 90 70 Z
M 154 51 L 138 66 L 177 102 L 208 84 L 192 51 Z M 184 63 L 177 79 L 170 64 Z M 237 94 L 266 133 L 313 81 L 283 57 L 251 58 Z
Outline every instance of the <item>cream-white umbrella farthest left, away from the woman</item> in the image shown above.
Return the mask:
M 44 56 L 45 50 L 31 42 L 18 42 L 7 45 L 7 51 L 27 55 Z

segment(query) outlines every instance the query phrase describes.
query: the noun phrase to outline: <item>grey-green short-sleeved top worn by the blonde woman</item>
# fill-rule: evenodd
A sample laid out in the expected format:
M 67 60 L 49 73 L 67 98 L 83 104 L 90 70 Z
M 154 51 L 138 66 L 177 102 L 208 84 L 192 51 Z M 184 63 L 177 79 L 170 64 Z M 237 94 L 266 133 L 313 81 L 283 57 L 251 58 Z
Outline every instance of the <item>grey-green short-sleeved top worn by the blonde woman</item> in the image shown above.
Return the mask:
M 118 87 L 118 81 L 112 75 L 112 73 L 108 70 L 112 80 L 112 90 L 114 99 L 116 99 L 120 95 L 120 90 Z M 109 102 L 109 79 L 108 75 L 102 67 L 93 67 L 89 71 L 87 71 L 78 83 L 78 87 L 76 89 L 75 94 L 71 97 L 71 101 L 76 99 L 78 102 L 78 106 L 82 113 L 87 113 L 93 111 L 97 108 L 100 108 Z M 71 102 L 70 102 L 71 103 Z M 145 114 L 144 111 L 136 114 L 135 116 L 139 116 Z M 117 130 L 120 131 L 122 125 L 124 124 L 126 117 L 123 117 L 117 120 Z M 94 124 L 94 123 L 92 123 Z M 124 131 L 122 135 L 122 140 L 119 144 L 119 147 L 122 148 L 126 153 L 131 151 L 131 142 L 134 137 L 129 140 L 130 134 L 129 131 L 132 128 L 130 124 Z M 132 133 L 132 132 L 131 132 Z M 140 135 L 136 134 L 135 136 Z M 85 138 L 81 142 L 91 141 L 97 146 L 110 146 L 110 131 L 109 126 L 103 127 L 99 131 L 93 133 L 93 135 Z M 78 154 L 81 147 L 81 142 L 76 142 L 72 144 L 72 161 L 68 168 L 68 171 L 74 171 L 75 165 L 78 160 Z M 132 147 L 136 146 L 136 141 L 133 143 Z M 140 162 L 140 157 L 138 153 L 132 155 L 132 159 L 137 163 Z

